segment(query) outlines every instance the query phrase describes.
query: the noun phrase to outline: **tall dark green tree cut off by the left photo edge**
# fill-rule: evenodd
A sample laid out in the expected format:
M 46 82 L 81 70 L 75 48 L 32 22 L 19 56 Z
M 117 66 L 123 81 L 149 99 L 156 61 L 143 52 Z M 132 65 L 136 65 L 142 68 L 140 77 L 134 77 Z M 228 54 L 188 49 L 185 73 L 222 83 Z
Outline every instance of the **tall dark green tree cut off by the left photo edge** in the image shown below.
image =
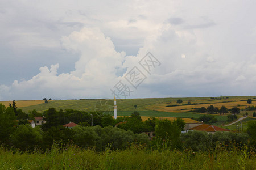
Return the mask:
M 0 144 L 9 144 L 10 134 L 15 131 L 15 113 L 12 107 L 5 108 L 5 105 L 0 103 Z

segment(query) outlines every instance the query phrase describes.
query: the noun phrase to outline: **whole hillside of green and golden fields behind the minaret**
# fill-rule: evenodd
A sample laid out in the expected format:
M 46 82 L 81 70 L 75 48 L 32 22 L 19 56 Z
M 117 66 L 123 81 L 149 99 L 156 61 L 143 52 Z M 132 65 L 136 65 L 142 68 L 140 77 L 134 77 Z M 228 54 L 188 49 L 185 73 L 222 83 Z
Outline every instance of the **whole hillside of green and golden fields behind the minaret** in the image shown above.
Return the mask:
M 177 104 L 177 99 L 183 100 L 183 103 Z M 256 105 L 256 96 L 229 96 L 229 97 L 184 97 L 184 98 L 148 98 L 148 99 L 117 99 L 118 116 L 130 116 L 134 111 L 138 111 L 141 116 L 152 117 L 195 117 L 202 116 L 200 113 L 189 112 L 189 108 L 199 108 L 208 105 L 225 105 L 226 107 L 240 107 L 241 110 L 247 107 L 247 99 L 253 99 L 250 105 Z M 191 103 L 187 105 L 188 101 Z M 0 101 L 1 102 L 1 101 Z M 19 101 L 17 101 L 18 103 Z M 114 100 L 106 99 L 81 99 L 81 100 L 52 100 L 49 103 L 41 103 L 37 105 L 29 105 L 20 107 L 24 112 L 35 109 L 39 113 L 43 113 L 48 108 L 60 109 L 75 109 L 86 112 L 104 111 L 113 114 Z M 137 108 L 134 108 L 137 105 Z M 167 105 L 176 105 L 174 107 L 166 107 Z M 164 111 L 162 111 L 162 109 Z M 166 110 L 167 109 L 167 110 Z M 169 110 L 168 110 L 169 109 Z M 175 111 L 172 111 L 174 109 Z M 241 111 L 240 116 L 246 112 L 252 116 L 254 111 Z M 224 125 L 226 123 L 226 116 L 214 114 L 218 122 L 215 125 Z M 246 125 L 245 125 L 246 126 Z M 233 128 L 233 127 L 232 127 Z

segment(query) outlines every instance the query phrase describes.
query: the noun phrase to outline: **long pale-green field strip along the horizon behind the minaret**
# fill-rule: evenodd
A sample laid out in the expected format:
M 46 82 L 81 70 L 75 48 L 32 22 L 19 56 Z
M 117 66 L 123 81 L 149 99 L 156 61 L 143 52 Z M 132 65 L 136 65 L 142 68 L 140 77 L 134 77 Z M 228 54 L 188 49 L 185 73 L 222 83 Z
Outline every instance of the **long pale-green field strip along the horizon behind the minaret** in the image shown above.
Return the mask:
M 148 99 L 118 99 L 117 107 L 118 111 L 133 111 L 134 105 L 137 105 L 137 111 L 147 111 L 147 109 L 154 109 L 155 105 L 174 105 L 176 104 L 177 99 L 182 99 L 183 103 L 186 104 L 188 101 L 193 103 L 229 103 L 232 101 L 246 101 L 247 99 L 256 99 L 256 96 L 234 96 L 234 97 L 186 97 L 186 98 L 148 98 Z M 168 104 L 171 103 L 171 104 Z M 253 101 L 253 103 L 256 103 Z M 31 111 L 36 109 L 39 113 L 43 113 L 44 110 L 48 108 L 56 109 L 76 109 L 81 111 L 112 111 L 113 110 L 114 100 L 105 100 L 105 99 L 93 99 L 93 100 L 53 100 L 48 104 L 38 104 L 31 105 L 28 107 L 21 107 L 24 112 Z M 193 105 L 197 107 L 197 105 Z

